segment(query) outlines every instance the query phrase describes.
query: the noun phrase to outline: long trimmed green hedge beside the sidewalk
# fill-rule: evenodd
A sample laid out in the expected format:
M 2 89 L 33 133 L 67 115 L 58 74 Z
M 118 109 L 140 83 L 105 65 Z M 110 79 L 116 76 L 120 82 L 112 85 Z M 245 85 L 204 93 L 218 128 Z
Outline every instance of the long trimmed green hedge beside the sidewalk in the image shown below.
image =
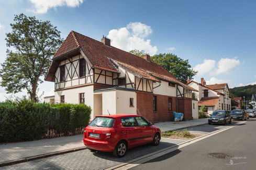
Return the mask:
M 88 125 L 91 107 L 83 104 L 46 104 L 30 100 L 0 103 L 0 142 L 41 139 L 50 128 L 73 132 Z

